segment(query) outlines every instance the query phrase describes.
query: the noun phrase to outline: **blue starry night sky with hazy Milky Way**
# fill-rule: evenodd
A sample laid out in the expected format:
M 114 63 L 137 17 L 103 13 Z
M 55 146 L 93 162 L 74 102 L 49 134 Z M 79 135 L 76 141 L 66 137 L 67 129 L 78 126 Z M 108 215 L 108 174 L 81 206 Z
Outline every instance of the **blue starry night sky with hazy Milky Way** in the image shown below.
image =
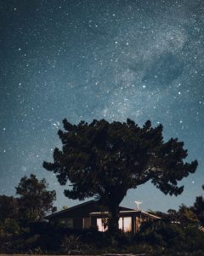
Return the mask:
M 61 147 L 66 118 L 164 125 L 197 159 L 178 197 L 150 183 L 122 205 L 167 211 L 190 206 L 204 183 L 203 0 L 0 0 L 0 194 L 20 177 L 45 177 L 56 206 L 69 207 L 42 161 Z

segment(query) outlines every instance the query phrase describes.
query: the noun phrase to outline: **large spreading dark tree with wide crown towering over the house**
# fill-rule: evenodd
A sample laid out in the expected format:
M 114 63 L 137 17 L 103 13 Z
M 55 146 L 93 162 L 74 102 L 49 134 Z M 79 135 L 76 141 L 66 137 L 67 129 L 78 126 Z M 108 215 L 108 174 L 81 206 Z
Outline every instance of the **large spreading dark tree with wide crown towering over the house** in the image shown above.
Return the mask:
M 133 120 L 109 123 L 105 119 L 72 125 L 63 120 L 59 130 L 62 149 L 54 149 L 54 163 L 43 167 L 56 173 L 60 184 L 69 180 L 65 195 L 84 200 L 96 196 L 109 207 L 109 230 L 118 228 L 119 204 L 128 189 L 151 182 L 164 194 L 179 195 L 184 187 L 178 181 L 195 172 L 197 161 L 184 162 L 184 143 L 171 138 L 166 143 L 162 125 L 153 128 L 150 120 L 143 127 Z

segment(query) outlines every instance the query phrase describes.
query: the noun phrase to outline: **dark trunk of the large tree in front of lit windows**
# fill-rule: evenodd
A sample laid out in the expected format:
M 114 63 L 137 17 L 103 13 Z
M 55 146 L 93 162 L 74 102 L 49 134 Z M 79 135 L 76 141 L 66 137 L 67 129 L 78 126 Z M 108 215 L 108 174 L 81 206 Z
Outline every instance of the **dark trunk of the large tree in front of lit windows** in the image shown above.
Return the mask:
M 118 221 L 119 221 L 119 206 L 111 204 L 109 206 L 110 217 L 108 220 L 108 230 L 111 235 L 114 235 L 119 230 Z

